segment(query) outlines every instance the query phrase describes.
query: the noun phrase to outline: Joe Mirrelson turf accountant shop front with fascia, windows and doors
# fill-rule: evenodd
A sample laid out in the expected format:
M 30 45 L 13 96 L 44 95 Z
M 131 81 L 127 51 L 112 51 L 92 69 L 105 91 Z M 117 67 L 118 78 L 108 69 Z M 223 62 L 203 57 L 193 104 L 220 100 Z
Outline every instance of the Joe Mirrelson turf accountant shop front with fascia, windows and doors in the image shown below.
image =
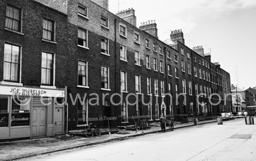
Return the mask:
M 64 133 L 65 90 L 0 85 L 0 140 Z

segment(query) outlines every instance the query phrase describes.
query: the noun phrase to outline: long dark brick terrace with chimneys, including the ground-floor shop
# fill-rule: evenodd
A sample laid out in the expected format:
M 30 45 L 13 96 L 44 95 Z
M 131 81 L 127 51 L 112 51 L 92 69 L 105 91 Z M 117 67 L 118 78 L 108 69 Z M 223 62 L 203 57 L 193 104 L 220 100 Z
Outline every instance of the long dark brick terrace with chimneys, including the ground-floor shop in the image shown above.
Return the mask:
M 131 116 L 233 110 L 229 73 L 211 54 L 186 46 L 182 30 L 159 40 L 155 20 L 137 27 L 133 8 L 113 14 L 108 0 L 1 0 L 0 8 L 0 139 L 64 134 L 93 119 L 128 125 Z

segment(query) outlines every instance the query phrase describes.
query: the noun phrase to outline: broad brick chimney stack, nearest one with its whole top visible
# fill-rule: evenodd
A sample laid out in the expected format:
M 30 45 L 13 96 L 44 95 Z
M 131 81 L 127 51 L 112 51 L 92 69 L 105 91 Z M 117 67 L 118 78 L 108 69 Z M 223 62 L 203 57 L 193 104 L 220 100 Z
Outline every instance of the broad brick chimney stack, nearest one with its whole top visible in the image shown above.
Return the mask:
M 123 11 L 118 11 L 118 13 L 116 13 L 117 16 L 119 16 L 121 19 L 126 20 L 127 22 L 129 22 L 130 24 L 132 24 L 133 26 L 136 26 L 136 16 L 135 16 L 135 10 L 133 8 L 129 8 Z

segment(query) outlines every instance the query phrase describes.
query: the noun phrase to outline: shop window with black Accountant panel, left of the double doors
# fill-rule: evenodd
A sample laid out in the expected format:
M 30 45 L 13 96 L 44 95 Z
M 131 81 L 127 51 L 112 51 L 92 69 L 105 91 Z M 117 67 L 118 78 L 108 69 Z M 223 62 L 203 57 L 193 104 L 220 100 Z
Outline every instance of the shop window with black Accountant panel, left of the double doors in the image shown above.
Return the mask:
M 13 97 L 11 126 L 29 126 L 30 97 Z

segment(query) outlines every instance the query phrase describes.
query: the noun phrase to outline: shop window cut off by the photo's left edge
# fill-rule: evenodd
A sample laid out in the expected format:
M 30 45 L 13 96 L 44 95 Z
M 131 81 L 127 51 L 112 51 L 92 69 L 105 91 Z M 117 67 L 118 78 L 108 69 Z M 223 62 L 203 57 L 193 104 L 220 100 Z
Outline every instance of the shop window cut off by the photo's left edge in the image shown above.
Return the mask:
M 0 95 L 0 127 L 8 127 L 9 111 L 8 111 L 8 96 Z

